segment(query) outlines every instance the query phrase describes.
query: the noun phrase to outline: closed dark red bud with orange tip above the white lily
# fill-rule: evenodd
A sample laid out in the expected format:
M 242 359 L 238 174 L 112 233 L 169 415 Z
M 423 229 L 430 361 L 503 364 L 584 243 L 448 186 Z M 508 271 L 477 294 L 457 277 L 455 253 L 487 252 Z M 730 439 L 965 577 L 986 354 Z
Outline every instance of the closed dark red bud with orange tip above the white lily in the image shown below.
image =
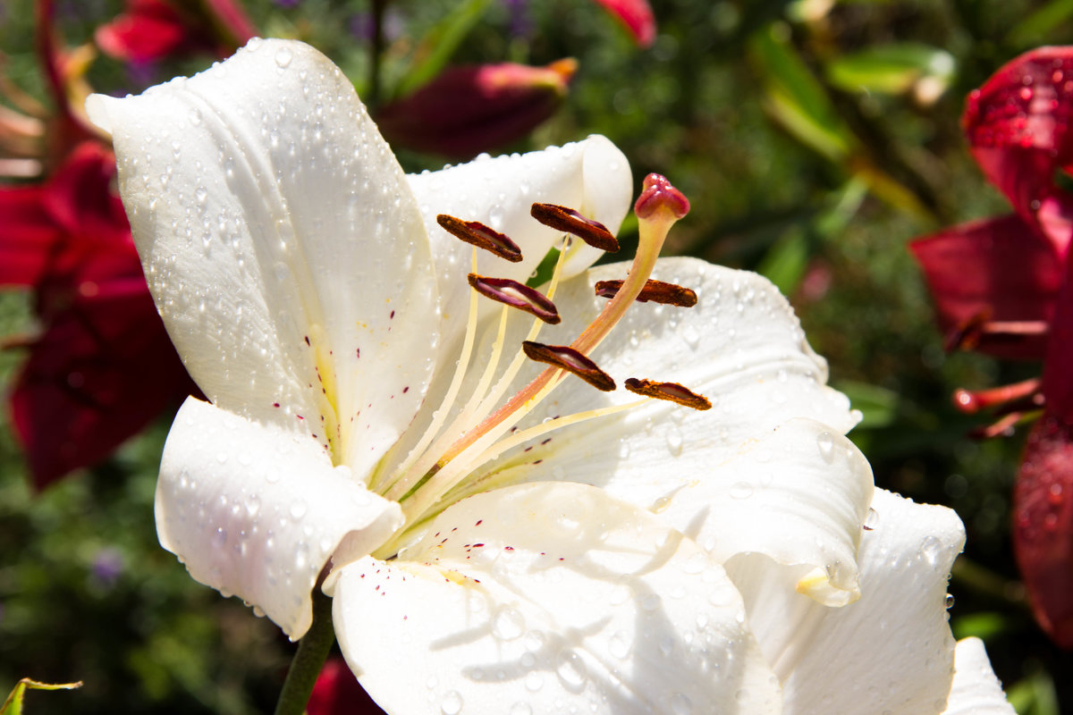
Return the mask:
M 572 59 L 545 68 L 451 68 L 381 109 L 377 124 L 392 144 L 468 159 L 521 138 L 550 117 L 576 70 Z

